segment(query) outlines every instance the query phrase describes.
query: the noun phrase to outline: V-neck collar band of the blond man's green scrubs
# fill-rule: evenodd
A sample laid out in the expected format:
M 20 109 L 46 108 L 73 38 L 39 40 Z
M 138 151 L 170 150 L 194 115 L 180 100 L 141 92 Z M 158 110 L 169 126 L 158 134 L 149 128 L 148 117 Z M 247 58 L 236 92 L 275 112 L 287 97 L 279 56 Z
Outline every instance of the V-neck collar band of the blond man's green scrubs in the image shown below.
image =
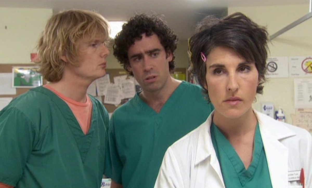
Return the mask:
M 61 99 L 60 97 L 58 97 L 55 93 L 53 93 L 51 90 L 46 89 L 45 87 L 37 87 L 32 89 L 33 91 L 37 91 L 40 92 L 42 94 L 46 94 L 47 96 L 49 96 L 51 98 L 51 101 L 59 108 L 59 110 L 62 112 L 63 118 L 66 119 L 67 125 L 69 127 L 69 129 L 71 130 L 71 133 L 73 134 L 73 137 L 76 140 L 77 143 L 77 147 L 79 149 L 80 152 L 80 157 L 81 160 L 84 162 L 85 161 L 85 157 L 89 151 L 91 142 L 92 142 L 92 138 L 94 136 L 94 129 L 95 129 L 95 124 L 96 124 L 96 117 L 97 116 L 97 112 L 95 111 L 95 104 L 93 99 L 90 97 L 91 102 L 92 102 L 92 117 L 91 117 L 91 125 L 90 125 L 90 129 L 88 131 L 87 134 L 84 134 L 75 115 L 72 113 L 71 109 L 69 108 L 69 106 L 66 104 L 66 102 Z M 60 126 L 65 126 L 65 125 L 60 125 Z

